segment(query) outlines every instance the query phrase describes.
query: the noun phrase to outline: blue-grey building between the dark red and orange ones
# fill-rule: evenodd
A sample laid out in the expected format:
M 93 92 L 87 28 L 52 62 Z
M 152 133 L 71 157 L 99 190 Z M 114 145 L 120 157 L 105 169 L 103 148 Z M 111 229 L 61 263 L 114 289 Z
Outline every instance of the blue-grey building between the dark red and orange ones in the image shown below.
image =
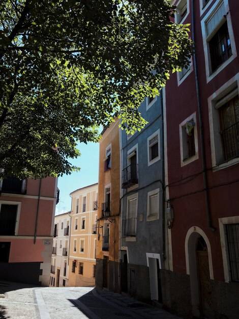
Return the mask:
M 148 124 L 121 135 L 121 291 L 162 301 L 164 262 L 164 155 L 161 96 L 147 97 L 139 112 Z

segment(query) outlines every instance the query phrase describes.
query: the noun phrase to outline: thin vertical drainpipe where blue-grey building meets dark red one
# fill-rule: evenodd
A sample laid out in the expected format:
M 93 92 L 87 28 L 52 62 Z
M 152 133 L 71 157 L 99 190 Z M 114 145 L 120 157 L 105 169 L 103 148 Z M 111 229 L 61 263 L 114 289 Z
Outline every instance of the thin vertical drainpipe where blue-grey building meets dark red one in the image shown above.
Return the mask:
M 161 101 L 161 123 L 162 123 L 162 257 L 163 260 L 166 259 L 165 253 L 165 167 L 164 167 L 164 113 L 163 113 L 163 94 L 161 89 L 160 94 L 160 101 Z

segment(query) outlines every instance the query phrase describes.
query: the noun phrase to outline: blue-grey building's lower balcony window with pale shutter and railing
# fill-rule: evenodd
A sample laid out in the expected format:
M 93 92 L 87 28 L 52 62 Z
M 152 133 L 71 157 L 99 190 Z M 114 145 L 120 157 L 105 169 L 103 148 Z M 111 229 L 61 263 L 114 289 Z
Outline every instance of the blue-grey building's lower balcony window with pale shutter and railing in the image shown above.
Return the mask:
M 122 220 L 122 231 L 124 237 L 136 236 L 137 226 L 138 194 L 127 198 L 127 218 Z

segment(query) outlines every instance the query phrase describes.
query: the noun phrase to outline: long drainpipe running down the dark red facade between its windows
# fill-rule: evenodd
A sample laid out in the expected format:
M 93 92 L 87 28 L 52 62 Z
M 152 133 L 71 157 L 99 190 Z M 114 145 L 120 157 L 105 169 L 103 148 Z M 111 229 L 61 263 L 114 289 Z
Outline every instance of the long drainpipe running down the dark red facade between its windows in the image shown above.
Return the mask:
M 194 0 L 191 0 L 192 3 L 192 40 L 195 43 L 195 17 L 194 17 Z M 202 153 L 202 172 L 203 172 L 203 185 L 204 185 L 204 194 L 205 194 L 205 204 L 206 204 L 206 216 L 208 228 L 212 231 L 215 231 L 216 228 L 212 226 L 211 220 L 211 211 L 208 198 L 208 189 L 207 189 L 207 176 L 206 176 L 206 165 L 205 165 L 205 147 L 203 139 L 203 128 L 202 128 L 202 112 L 201 112 L 201 102 L 200 102 L 200 92 L 199 92 L 199 83 L 198 83 L 198 69 L 197 69 L 197 58 L 196 58 L 196 49 L 193 54 L 194 68 L 195 68 L 195 82 L 196 82 L 196 92 L 197 92 L 197 107 L 198 107 L 198 118 L 199 118 L 199 132 L 201 140 L 201 153 Z

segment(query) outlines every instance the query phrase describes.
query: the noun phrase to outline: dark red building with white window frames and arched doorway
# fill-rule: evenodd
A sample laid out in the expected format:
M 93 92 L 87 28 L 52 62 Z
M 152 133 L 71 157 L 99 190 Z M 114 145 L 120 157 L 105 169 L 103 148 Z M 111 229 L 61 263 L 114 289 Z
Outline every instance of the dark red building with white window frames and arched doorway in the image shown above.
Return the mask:
M 163 302 L 184 317 L 239 316 L 239 5 L 176 0 L 195 55 L 163 92 Z M 171 209 L 170 209 L 171 207 Z M 172 214 L 173 210 L 173 214 Z

